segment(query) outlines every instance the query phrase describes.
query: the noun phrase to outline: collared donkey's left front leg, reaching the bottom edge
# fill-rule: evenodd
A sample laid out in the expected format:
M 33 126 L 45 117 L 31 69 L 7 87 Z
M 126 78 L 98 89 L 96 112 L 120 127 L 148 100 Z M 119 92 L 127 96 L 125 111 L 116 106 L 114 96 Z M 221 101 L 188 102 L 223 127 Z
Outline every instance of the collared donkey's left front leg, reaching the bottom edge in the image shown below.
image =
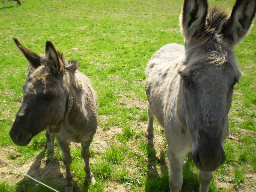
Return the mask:
M 73 192 L 73 182 L 72 182 L 72 173 L 70 170 L 70 165 L 72 163 L 72 157 L 70 154 L 70 148 L 69 148 L 69 142 L 60 140 L 57 138 L 58 145 L 62 151 L 63 154 L 63 163 L 66 168 L 66 187 L 65 187 L 65 192 Z

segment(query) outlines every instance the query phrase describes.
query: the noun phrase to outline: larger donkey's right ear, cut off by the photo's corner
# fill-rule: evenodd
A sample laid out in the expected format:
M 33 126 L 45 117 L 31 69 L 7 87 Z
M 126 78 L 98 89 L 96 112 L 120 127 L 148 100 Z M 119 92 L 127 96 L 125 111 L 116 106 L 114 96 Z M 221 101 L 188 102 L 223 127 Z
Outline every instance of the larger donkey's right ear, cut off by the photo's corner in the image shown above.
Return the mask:
M 256 11 L 256 0 L 236 0 L 230 18 L 223 27 L 227 41 L 236 45 L 249 31 Z

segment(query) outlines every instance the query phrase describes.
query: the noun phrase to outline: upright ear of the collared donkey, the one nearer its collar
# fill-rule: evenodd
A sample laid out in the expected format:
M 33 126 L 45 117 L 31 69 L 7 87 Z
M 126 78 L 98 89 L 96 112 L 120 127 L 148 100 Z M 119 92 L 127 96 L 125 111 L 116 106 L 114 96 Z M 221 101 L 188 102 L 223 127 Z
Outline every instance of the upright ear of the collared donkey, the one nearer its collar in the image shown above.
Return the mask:
M 50 62 L 51 67 L 57 72 L 61 73 L 63 71 L 62 63 L 60 57 L 53 46 L 51 41 L 46 41 L 45 45 L 45 59 Z

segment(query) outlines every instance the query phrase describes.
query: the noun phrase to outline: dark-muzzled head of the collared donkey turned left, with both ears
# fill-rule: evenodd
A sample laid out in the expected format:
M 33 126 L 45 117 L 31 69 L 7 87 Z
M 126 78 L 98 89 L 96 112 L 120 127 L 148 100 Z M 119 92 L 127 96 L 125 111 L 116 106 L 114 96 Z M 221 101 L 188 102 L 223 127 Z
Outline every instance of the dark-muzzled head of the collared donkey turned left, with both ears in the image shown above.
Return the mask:
M 21 45 L 16 38 L 13 40 L 29 62 L 23 101 L 10 130 L 13 142 L 24 146 L 45 129 L 60 131 L 68 98 L 63 65 L 66 61 L 51 41 L 46 42 L 45 56 L 41 56 Z

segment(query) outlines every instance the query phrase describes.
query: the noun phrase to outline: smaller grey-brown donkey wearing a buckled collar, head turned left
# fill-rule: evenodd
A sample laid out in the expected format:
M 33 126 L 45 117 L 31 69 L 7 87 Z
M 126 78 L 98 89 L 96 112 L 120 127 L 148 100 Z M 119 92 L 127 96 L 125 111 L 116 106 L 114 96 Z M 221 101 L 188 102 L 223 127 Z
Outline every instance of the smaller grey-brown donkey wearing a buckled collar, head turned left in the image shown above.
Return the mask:
M 27 145 L 32 137 L 46 130 L 47 147 L 52 148 L 51 133 L 57 138 L 66 167 L 66 192 L 73 191 L 69 143 L 81 143 L 85 178 L 94 184 L 91 172 L 90 144 L 96 132 L 97 98 L 88 77 L 76 69 L 77 61 L 66 61 L 51 41 L 45 54 L 37 55 L 13 38 L 29 62 L 21 107 L 10 130 L 13 142 Z

